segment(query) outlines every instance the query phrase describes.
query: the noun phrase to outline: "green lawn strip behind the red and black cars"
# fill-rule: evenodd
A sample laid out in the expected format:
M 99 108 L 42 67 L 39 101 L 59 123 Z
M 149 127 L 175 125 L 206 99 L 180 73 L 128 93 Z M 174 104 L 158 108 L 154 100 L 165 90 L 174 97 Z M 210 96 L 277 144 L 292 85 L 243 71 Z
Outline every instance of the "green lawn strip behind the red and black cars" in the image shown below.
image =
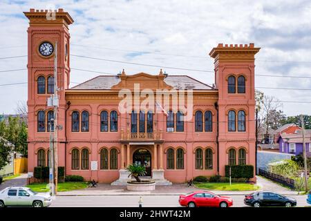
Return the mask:
M 229 182 L 202 182 L 194 184 L 199 189 L 209 189 L 215 191 L 257 191 L 260 189 L 256 184 L 246 184 L 241 182 L 233 182 L 230 186 Z

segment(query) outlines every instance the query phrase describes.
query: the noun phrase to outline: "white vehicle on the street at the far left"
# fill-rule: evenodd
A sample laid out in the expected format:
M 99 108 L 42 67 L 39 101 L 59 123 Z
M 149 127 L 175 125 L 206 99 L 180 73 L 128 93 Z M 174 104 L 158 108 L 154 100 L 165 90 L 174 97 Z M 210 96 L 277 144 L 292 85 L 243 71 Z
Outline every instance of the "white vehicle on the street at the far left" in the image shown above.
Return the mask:
M 27 187 L 7 187 L 0 192 L 0 207 L 4 206 L 50 206 L 49 193 L 36 193 Z

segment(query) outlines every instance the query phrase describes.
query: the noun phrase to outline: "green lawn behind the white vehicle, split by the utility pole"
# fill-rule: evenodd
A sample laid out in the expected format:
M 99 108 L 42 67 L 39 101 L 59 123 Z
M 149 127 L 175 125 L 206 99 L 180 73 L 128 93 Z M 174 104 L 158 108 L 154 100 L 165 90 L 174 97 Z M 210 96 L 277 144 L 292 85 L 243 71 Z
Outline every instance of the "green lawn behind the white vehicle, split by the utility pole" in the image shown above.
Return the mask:
M 88 186 L 87 182 L 60 182 L 57 186 L 57 191 L 74 191 L 76 189 L 84 189 Z M 29 184 L 27 185 L 32 191 L 35 192 L 48 192 L 49 187 L 47 183 Z

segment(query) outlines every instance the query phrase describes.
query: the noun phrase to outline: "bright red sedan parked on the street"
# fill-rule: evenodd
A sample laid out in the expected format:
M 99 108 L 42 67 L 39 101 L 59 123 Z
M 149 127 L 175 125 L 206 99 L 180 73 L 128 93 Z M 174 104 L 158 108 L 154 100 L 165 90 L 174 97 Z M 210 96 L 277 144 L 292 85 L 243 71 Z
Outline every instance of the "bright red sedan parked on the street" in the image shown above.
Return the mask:
M 186 195 L 180 195 L 179 204 L 180 206 L 189 207 L 229 207 L 233 205 L 233 200 L 228 196 L 216 195 L 208 191 L 195 191 Z

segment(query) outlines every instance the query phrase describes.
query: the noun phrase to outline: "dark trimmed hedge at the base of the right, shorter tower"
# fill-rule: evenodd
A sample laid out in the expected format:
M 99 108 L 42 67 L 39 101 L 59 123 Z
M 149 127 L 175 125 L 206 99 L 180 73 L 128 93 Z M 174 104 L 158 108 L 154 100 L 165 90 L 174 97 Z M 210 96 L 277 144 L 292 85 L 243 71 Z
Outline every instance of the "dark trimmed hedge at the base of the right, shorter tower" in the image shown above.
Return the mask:
M 254 177 L 254 166 L 253 165 L 226 165 L 225 176 L 229 177 L 229 167 L 231 167 L 232 178 L 252 178 Z

